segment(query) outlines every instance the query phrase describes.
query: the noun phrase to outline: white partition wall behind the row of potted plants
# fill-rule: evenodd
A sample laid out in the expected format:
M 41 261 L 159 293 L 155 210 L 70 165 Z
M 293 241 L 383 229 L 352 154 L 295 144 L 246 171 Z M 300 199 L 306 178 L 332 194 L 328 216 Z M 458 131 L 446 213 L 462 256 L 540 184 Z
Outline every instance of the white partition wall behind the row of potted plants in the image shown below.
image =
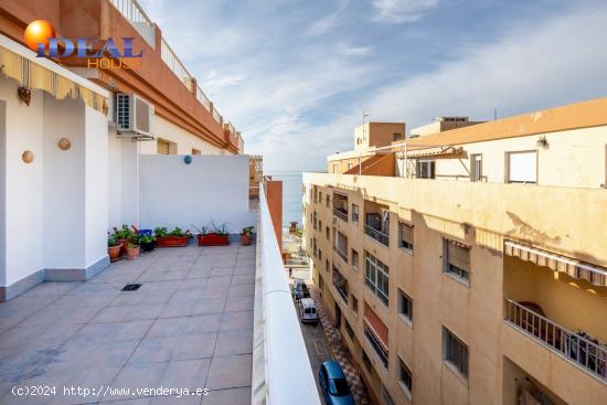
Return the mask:
M 185 164 L 181 156 L 141 157 L 142 228 L 183 230 L 228 223 L 231 233 L 255 224 L 248 212 L 248 157 L 194 156 Z

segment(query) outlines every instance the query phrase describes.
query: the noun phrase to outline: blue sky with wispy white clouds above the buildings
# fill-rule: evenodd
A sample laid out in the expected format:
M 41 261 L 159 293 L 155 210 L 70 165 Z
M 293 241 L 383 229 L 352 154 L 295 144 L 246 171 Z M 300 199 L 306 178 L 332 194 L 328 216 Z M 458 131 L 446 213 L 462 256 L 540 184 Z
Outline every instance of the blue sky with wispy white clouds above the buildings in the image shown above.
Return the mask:
M 140 0 L 264 169 L 323 171 L 371 121 L 607 95 L 605 0 Z

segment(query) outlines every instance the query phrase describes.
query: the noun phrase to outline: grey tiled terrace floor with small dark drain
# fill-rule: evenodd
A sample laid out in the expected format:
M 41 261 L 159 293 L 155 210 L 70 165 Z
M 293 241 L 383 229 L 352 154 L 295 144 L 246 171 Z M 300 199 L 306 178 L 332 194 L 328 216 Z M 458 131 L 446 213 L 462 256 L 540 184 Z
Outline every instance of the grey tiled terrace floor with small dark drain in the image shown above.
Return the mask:
M 248 404 L 254 277 L 255 246 L 163 248 L 0 302 L 0 404 Z M 127 283 L 142 286 L 120 291 Z M 15 396 L 15 385 L 56 395 Z M 107 386 L 131 392 L 98 394 Z M 210 393 L 134 392 L 160 386 Z

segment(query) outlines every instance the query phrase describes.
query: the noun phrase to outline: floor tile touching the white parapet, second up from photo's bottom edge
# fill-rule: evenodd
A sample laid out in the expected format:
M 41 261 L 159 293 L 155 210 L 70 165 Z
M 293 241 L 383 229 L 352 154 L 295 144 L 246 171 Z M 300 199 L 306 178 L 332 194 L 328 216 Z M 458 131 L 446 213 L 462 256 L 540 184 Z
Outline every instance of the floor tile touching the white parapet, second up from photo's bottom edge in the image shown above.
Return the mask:
M 213 356 L 206 379 L 211 391 L 251 386 L 251 354 Z

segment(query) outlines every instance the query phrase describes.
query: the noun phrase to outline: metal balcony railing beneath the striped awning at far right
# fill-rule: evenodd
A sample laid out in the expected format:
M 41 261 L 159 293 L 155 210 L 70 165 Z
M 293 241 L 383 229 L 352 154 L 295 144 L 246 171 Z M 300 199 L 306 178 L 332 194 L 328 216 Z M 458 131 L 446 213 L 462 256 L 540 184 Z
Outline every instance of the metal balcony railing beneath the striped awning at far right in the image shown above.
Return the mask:
M 508 298 L 505 321 L 607 384 L 606 345 L 572 332 Z

